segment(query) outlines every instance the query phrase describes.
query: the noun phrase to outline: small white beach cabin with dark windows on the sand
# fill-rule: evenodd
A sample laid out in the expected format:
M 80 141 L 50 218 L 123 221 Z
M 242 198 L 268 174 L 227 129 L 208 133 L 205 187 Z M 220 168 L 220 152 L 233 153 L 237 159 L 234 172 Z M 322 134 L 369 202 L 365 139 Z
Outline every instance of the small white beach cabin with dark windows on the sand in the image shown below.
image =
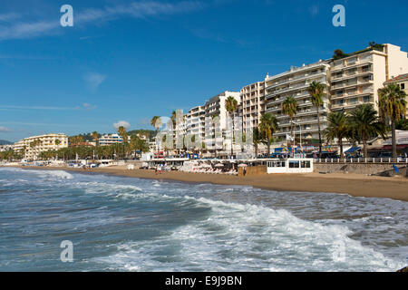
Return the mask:
M 267 174 L 273 173 L 311 173 L 313 159 L 290 158 L 287 160 L 268 160 Z

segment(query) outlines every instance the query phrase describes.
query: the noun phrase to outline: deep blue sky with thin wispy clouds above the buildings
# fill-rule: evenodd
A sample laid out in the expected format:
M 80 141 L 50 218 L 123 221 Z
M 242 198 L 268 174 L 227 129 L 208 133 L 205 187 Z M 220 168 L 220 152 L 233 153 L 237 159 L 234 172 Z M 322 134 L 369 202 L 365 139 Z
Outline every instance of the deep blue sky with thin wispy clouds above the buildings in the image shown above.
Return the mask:
M 60 8 L 73 6 L 73 27 Z M 332 8 L 345 5 L 346 26 Z M 394 43 L 408 51 L 408 2 L 331 0 L 2 0 L 0 139 L 151 129 L 267 73 L 337 48 Z

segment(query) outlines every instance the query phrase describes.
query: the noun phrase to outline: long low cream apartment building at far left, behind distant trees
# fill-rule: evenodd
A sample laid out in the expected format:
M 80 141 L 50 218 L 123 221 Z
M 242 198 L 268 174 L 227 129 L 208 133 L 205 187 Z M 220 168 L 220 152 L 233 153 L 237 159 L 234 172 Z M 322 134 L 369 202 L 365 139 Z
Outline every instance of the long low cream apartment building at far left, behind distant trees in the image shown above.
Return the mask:
M 24 159 L 36 160 L 41 152 L 60 150 L 68 147 L 68 136 L 65 134 L 46 134 L 19 140 L 13 150 L 24 152 Z

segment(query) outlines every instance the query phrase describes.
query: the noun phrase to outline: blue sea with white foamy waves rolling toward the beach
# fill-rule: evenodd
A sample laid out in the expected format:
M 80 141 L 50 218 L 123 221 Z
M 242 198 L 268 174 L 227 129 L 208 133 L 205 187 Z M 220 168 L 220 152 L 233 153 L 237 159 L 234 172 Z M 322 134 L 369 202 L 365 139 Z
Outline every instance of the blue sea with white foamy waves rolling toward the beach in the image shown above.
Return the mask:
M 73 262 L 63 262 L 63 241 Z M 0 271 L 395 271 L 408 203 L 0 168 Z

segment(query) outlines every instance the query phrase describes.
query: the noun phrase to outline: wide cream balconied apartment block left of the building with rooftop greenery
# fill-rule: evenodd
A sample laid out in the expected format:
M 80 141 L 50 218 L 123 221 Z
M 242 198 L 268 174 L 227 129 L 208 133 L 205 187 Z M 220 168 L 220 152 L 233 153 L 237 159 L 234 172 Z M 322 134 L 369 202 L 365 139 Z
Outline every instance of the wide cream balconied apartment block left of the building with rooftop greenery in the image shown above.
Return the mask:
M 317 110 L 307 92 L 307 88 L 313 81 L 325 85 L 324 103 L 319 109 L 320 128 L 323 131 L 327 126 L 330 104 L 330 65 L 328 62 L 304 64 L 301 67 L 292 67 L 289 71 L 275 76 L 267 75 L 265 79 L 266 111 L 277 116 L 279 131 L 276 136 L 278 138 L 286 138 L 293 125 L 296 138 L 301 135 L 303 140 L 318 140 Z M 295 97 L 299 107 L 294 124 L 291 124 L 290 118 L 282 112 L 282 103 L 288 96 Z

